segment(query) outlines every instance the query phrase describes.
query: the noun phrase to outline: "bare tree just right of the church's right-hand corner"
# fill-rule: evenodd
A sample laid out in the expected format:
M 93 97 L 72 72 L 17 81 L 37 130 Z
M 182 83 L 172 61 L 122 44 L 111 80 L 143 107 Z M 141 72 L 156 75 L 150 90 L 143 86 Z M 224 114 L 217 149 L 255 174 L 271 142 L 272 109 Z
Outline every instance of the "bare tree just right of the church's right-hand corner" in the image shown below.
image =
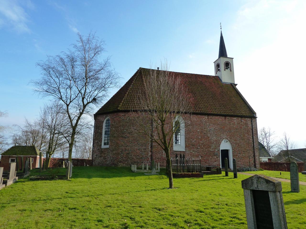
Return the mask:
M 271 131 L 270 127 L 263 127 L 259 130 L 258 140 L 264 145 L 264 147 L 266 147 L 271 156 L 275 156 L 277 154 L 275 150 L 278 142 L 276 141 L 275 131 Z

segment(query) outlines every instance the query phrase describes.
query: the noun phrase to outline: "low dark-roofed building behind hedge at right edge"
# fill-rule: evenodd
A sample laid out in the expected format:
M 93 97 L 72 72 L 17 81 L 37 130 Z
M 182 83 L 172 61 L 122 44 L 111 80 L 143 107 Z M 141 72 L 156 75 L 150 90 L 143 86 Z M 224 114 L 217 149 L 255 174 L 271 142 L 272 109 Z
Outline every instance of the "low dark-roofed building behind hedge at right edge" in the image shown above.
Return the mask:
M 291 157 L 291 160 L 288 160 L 288 157 Z M 275 157 L 275 162 L 306 162 L 306 148 L 303 149 L 293 149 L 288 150 L 286 152 L 285 150 L 281 150 Z

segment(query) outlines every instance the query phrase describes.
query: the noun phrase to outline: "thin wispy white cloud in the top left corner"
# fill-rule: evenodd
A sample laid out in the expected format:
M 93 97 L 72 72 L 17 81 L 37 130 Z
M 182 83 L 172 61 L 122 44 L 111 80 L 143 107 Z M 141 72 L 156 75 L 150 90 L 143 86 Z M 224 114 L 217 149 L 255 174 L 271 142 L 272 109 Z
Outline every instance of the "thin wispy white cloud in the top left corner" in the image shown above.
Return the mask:
M 31 1 L 27 1 L 27 5 L 32 8 L 34 5 Z M 10 27 L 19 33 L 30 33 L 27 25 L 29 16 L 15 0 L 0 0 L 0 26 Z

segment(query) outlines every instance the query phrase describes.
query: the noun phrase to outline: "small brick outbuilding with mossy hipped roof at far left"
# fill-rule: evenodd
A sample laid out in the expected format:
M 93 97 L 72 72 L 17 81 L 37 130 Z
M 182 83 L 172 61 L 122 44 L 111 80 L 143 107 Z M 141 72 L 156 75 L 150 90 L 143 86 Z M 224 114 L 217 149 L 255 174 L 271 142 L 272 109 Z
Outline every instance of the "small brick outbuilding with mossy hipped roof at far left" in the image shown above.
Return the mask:
M 8 150 L 1 154 L 0 167 L 3 167 L 3 171 L 9 171 L 10 163 L 17 162 L 17 158 L 18 165 L 16 164 L 16 170 L 17 167 L 19 169 L 22 168 L 21 161 L 24 163 L 27 158 L 32 158 L 33 169 L 39 168 L 39 150 L 35 146 L 10 147 Z

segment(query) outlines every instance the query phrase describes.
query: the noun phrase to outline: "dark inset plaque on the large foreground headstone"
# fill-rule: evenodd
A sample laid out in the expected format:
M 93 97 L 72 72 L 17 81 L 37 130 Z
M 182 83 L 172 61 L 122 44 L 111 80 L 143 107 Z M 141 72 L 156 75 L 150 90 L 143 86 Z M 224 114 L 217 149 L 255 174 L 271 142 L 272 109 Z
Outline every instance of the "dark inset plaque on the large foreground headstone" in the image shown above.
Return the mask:
M 269 191 L 253 190 L 257 229 L 274 229 Z

